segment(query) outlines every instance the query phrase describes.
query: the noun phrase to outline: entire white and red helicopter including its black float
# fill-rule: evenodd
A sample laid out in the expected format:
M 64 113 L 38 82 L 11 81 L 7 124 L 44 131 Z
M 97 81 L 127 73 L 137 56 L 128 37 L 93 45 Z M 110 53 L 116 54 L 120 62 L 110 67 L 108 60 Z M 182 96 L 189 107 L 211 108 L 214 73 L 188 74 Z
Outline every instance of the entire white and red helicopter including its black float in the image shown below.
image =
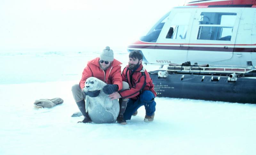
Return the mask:
M 256 103 L 256 0 L 190 0 L 127 50 L 167 66 L 149 72 L 158 97 Z

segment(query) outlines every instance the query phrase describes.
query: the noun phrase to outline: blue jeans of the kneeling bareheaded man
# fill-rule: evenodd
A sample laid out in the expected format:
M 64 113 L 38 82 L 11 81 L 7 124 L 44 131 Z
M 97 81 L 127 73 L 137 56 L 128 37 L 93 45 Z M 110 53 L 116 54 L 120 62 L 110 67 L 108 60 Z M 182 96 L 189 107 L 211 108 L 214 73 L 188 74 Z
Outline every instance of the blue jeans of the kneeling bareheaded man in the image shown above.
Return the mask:
M 124 112 L 124 120 L 130 120 L 132 114 L 143 105 L 145 106 L 147 116 L 152 116 L 156 111 L 155 95 L 149 90 L 143 91 L 137 100 L 128 100 Z

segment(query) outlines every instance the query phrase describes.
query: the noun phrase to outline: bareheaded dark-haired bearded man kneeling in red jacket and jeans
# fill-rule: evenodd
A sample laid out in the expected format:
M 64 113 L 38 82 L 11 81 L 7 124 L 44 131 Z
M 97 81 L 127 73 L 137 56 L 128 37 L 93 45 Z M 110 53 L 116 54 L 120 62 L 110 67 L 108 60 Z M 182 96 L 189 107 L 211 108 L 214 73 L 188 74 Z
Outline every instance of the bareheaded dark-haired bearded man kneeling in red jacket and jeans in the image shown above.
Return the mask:
M 120 113 L 117 122 L 126 124 L 133 113 L 141 106 L 145 106 L 146 116 L 144 122 L 152 122 L 156 111 L 156 92 L 147 70 L 142 66 L 142 54 L 134 50 L 129 54 L 129 64 L 124 68 L 122 80 L 129 84 L 129 89 L 114 92 L 109 95 L 112 99 L 119 99 Z M 128 100 L 129 99 L 129 100 Z M 128 102 L 127 102 L 128 100 Z

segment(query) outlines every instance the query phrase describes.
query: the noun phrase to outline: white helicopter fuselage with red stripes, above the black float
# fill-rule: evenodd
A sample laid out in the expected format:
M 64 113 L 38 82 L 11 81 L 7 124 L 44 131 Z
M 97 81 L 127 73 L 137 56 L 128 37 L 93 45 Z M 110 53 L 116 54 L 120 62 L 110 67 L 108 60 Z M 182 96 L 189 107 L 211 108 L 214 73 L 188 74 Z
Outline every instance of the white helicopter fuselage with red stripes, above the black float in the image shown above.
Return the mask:
M 256 0 L 191 0 L 127 48 L 144 64 L 256 66 Z

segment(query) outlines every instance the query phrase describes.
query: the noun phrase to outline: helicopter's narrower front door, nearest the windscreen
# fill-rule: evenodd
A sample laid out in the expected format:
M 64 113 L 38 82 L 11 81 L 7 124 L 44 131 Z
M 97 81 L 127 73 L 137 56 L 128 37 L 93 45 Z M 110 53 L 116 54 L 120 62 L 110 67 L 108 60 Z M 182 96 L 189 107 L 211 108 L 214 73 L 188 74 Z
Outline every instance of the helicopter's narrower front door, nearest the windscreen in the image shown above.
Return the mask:
M 190 10 L 190 11 L 189 11 Z M 194 11 L 173 9 L 157 39 L 157 60 L 164 63 L 183 63 L 187 59 L 188 42 Z

